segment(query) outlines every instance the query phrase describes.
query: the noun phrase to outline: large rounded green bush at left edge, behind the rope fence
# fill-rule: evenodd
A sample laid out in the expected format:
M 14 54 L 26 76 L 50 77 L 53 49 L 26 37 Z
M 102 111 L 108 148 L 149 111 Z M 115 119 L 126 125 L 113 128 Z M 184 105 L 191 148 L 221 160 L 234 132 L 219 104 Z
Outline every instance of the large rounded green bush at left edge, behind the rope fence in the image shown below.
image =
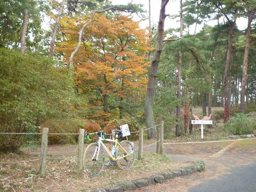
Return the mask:
M 36 53 L 0 49 L 0 132 L 29 133 L 68 116 L 73 82 L 60 63 Z M 0 134 L 0 151 L 15 151 L 25 135 Z

